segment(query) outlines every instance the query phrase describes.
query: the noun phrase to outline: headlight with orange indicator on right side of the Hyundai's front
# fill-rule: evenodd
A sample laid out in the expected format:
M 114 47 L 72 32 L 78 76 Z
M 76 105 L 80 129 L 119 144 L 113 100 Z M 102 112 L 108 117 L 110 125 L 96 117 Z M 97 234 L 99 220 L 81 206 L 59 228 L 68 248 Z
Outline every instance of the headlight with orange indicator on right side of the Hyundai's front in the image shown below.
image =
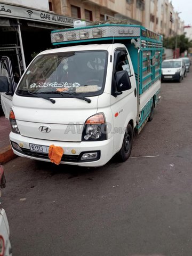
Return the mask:
M 84 126 L 82 141 L 95 141 L 107 139 L 107 126 L 103 114 L 89 117 Z

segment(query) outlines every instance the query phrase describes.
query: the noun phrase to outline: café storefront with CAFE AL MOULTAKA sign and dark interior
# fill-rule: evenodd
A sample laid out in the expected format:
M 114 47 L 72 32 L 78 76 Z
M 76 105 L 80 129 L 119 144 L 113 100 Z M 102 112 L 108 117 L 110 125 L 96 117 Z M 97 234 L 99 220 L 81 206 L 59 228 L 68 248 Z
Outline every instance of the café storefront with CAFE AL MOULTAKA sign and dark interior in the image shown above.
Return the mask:
M 51 30 L 73 27 L 76 19 L 0 2 L 0 57 L 9 56 L 15 82 L 35 55 L 50 49 Z

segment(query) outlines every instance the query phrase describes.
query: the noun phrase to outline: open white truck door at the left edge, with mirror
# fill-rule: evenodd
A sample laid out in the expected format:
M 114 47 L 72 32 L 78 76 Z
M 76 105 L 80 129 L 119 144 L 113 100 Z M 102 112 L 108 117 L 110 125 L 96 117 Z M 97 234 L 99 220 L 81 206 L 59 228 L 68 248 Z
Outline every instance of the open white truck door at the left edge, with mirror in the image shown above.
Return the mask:
M 14 83 L 11 61 L 9 57 L 2 57 L 0 60 L 0 97 L 1 106 L 5 118 L 9 118 L 12 108 L 12 97 L 17 84 Z

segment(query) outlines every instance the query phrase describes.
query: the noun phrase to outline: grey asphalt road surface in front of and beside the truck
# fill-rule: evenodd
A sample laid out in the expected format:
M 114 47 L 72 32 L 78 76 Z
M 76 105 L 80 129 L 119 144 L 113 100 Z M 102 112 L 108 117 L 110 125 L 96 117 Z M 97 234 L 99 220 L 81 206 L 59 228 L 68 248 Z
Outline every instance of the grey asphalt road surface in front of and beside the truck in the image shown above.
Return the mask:
M 153 122 L 123 164 L 7 163 L 13 255 L 191 256 L 191 81 L 192 71 L 182 83 L 162 84 Z

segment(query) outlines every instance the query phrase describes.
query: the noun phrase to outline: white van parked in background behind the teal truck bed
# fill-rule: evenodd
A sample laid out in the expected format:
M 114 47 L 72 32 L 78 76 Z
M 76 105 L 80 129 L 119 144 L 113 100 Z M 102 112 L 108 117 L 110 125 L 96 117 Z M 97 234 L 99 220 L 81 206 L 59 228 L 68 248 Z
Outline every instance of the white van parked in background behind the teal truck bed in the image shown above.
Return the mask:
M 185 75 L 185 63 L 182 59 L 169 59 L 162 62 L 162 82 L 173 80 L 181 82 Z

